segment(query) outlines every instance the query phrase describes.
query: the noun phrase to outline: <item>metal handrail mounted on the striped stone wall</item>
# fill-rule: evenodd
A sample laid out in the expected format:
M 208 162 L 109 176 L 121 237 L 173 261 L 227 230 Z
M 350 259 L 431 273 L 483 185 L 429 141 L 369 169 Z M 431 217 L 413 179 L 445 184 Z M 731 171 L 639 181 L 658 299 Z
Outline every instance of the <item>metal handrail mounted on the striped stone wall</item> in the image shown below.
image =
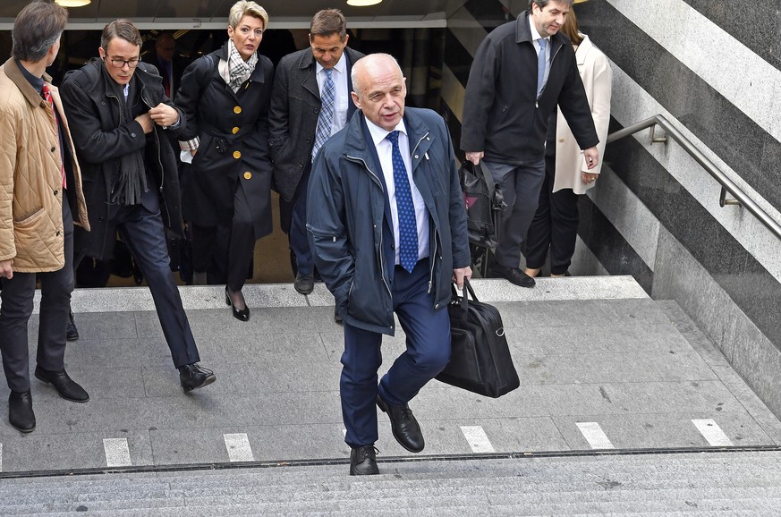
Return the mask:
M 705 169 L 713 179 L 721 184 L 721 199 L 719 204 L 724 207 L 725 205 L 740 204 L 745 207 L 753 216 L 760 220 L 760 223 L 765 225 L 770 232 L 774 233 L 779 239 L 781 239 L 781 225 L 777 223 L 775 219 L 768 215 L 753 199 L 749 198 L 745 192 L 743 192 L 721 169 L 719 169 L 708 157 L 700 152 L 700 149 L 695 148 L 690 140 L 688 140 L 681 131 L 678 131 L 675 126 L 668 121 L 664 115 L 656 114 L 644 121 L 632 124 L 629 127 L 625 127 L 623 130 L 615 131 L 607 135 L 607 143 L 615 140 L 623 139 L 636 132 L 650 128 L 651 143 L 666 142 L 666 137 L 656 138 L 654 137 L 654 128 L 660 126 L 665 130 L 666 135 L 670 136 L 678 142 L 678 144 L 685 150 L 690 157 Z M 725 199 L 726 192 L 729 192 L 734 199 Z

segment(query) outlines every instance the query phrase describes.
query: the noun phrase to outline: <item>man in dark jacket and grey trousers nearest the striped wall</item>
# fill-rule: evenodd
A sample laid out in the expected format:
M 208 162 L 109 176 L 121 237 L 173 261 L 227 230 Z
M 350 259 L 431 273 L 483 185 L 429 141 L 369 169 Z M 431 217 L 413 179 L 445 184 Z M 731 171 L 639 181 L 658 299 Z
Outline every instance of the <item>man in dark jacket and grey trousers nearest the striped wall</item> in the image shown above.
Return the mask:
M 589 168 L 598 137 L 572 42 L 558 30 L 573 0 L 531 0 L 530 11 L 497 27 L 480 47 L 463 100 L 461 148 L 482 159 L 507 203 L 491 273 L 522 287 L 521 244 L 537 211 L 545 177 L 548 121 L 561 107 Z

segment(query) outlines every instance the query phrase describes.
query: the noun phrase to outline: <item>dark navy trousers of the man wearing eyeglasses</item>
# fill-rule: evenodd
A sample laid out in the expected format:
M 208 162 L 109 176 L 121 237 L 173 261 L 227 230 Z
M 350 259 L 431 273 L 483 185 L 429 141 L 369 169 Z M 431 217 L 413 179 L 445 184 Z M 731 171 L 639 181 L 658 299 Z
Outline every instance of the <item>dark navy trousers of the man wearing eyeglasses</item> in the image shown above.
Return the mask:
M 112 223 L 147 279 L 174 366 L 179 368 L 198 362 L 198 348 L 169 266 L 166 231 L 160 210 L 151 212 L 143 205 L 119 207 Z

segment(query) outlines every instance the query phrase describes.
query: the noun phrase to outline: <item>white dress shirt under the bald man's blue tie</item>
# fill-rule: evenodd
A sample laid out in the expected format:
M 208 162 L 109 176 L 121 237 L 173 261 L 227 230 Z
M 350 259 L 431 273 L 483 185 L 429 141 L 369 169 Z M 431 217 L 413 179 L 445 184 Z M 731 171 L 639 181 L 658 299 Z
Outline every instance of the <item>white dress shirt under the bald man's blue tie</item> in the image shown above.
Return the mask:
M 387 187 L 387 199 L 390 202 L 391 218 L 394 225 L 394 250 L 395 264 L 399 264 L 399 211 L 396 208 L 396 187 L 394 182 L 394 164 L 393 164 L 393 144 L 387 140 L 387 135 L 391 131 L 386 131 L 378 125 L 371 123 L 366 119 L 366 125 L 369 126 L 371 140 L 377 148 L 379 165 L 382 167 L 382 174 L 385 178 Z M 415 224 L 418 226 L 418 259 L 425 259 L 429 256 L 429 212 L 426 210 L 426 203 L 423 196 L 420 195 L 418 187 L 412 180 L 412 159 L 410 158 L 410 139 L 407 136 L 407 128 L 402 120 L 395 127 L 399 131 L 399 152 L 402 154 L 404 167 L 407 169 L 407 179 L 410 181 L 412 190 L 412 204 L 415 206 Z

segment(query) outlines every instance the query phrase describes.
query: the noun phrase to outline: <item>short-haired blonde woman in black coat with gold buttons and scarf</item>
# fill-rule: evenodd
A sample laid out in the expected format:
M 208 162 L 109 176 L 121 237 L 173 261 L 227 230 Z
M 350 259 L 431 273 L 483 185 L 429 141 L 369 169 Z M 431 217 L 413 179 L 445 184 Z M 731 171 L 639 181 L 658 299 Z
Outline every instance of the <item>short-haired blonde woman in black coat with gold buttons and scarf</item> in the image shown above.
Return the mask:
M 255 242 L 272 230 L 267 118 L 274 66 L 258 54 L 267 26 L 259 4 L 233 4 L 225 46 L 190 64 L 176 94 L 187 116 L 180 146 L 191 164 L 183 170 L 182 201 L 193 283 L 225 283 L 225 303 L 242 321 L 250 319 L 242 287 Z

